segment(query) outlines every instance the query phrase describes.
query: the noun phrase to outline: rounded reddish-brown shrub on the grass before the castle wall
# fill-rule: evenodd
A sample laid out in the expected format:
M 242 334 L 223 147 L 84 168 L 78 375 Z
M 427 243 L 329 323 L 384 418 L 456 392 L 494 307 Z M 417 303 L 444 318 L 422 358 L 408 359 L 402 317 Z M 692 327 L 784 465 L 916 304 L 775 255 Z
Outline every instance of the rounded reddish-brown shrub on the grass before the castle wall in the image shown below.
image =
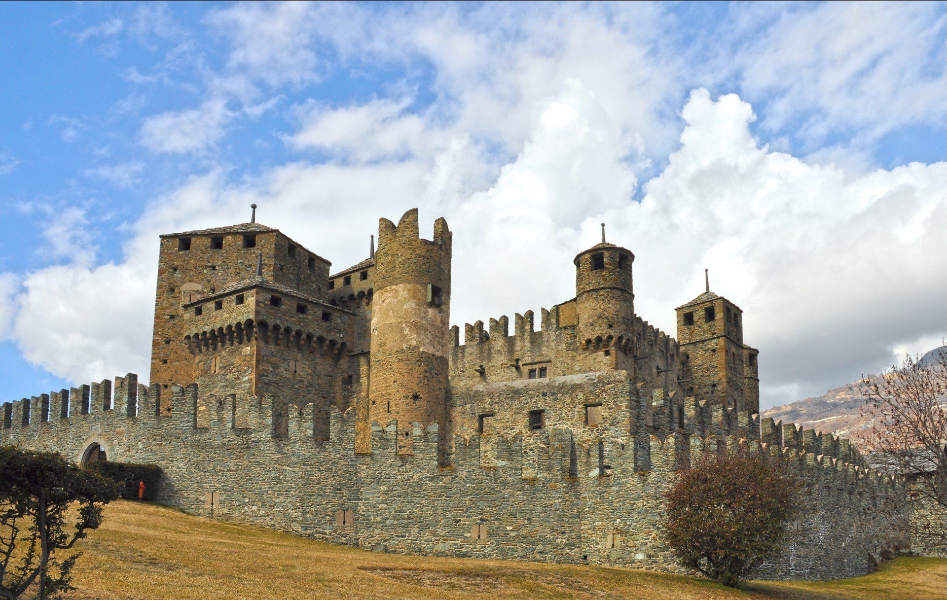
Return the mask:
M 708 451 L 667 494 L 665 538 L 681 564 L 736 586 L 779 553 L 800 485 L 782 455 Z

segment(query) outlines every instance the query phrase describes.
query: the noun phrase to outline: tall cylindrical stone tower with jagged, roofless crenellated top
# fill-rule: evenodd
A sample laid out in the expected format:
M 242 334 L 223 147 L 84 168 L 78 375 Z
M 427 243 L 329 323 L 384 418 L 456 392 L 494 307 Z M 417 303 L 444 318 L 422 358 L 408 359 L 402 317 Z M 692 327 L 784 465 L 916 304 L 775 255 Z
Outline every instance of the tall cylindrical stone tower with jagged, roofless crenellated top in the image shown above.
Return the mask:
M 369 418 L 397 419 L 400 439 L 410 435 L 412 422 L 437 421 L 443 435 L 451 313 L 447 221 L 435 221 L 428 240 L 419 238 L 417 208 L 404 213 L 397 227 L 382 219 L 374 290 Z

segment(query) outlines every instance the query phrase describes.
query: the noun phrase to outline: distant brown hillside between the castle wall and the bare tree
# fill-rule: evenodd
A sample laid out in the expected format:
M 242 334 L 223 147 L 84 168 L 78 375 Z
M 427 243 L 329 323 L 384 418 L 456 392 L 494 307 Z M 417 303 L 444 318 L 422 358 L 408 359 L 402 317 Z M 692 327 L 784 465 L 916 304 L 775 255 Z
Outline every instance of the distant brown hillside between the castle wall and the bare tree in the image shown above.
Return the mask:
M 919 366 L 931 366 L 937 362 L 938 347 L 920 358 Z M 871 417 L 862 415 L 861 404 L 865 392 L 865 383 L 853 381 L 842 387 L 829 390 L 822 396 L 807 397 L 792 404 L 777 406 L 763 417 L 772 416 L 783 423 L 795 423 L 804 429 L 816 432 L 844 435 L 856 444 L 871 428 Z

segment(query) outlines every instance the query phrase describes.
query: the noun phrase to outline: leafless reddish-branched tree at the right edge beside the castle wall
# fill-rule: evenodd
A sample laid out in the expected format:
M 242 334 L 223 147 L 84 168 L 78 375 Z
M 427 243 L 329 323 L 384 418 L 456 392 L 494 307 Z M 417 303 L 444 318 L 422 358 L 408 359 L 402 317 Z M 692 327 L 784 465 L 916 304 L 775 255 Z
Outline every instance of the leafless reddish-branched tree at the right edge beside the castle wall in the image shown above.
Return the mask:
M 911 486 L 915 543 L 947 549 L 947 345 L 930 356 L 905 356 L 881 376 L 863 378 L 862 411 L 872 418 L 869 461 Z

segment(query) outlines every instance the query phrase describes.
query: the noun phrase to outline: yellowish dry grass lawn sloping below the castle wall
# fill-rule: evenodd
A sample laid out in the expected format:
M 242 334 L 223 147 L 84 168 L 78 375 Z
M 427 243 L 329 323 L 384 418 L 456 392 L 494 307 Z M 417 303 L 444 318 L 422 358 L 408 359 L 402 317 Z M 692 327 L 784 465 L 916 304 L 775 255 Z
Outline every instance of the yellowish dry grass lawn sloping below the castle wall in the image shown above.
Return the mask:
M 385 555 L 125 501 L 107 507 L 80 549 L 79 589 L 66 598 L 947 599 L 947 559 L 900 558 L 864 577 L 728 590 L 626 569 Z

